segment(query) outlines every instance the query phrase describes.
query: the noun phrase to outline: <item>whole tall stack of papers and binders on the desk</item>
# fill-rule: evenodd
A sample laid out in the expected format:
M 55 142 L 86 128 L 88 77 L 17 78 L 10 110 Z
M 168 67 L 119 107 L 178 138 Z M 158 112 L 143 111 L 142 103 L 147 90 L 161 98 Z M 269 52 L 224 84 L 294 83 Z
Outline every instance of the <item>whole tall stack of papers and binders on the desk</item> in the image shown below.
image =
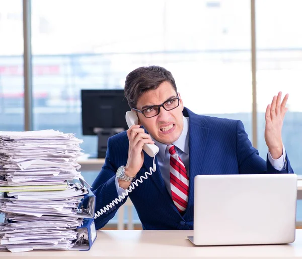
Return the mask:
M 94 223 L 85 218 L 93 218 L 95 200 L 78 171 L 80 143 L 74 134 L 54 130 L 0 132 L 0 250 L 92 245 Z M 89 208 L 81 206 L 86 196 Z M 86 228 L 93 232 L 89 238 Z

